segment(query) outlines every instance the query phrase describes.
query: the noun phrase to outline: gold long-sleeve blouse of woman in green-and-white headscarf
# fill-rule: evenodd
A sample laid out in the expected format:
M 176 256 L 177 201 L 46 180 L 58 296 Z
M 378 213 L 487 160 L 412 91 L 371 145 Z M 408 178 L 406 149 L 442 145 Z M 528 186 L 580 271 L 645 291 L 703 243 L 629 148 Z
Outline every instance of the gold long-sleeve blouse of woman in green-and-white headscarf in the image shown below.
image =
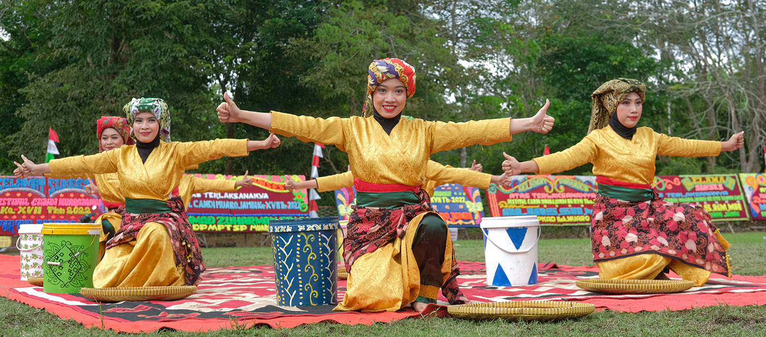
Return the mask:
M 247 153 L 247 139 L 161 142 L 143 163 L 136 146 L 122 146 L 97 155 L 51 160 L 50 176 L 116 172 L 125 198 L 167 201 L 187 167 L 223 155 L 237 157 Z

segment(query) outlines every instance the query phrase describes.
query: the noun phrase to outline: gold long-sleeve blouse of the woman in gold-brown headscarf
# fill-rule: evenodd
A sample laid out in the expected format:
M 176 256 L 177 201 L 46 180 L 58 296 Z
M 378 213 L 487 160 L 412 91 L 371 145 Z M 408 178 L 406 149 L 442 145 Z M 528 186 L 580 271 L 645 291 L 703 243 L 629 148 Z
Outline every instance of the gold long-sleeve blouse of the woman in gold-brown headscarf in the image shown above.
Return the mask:
M 597 129 L 569 149 L 534 160 L 541 175 L 593 163 L 593 174 L 620 182 L 650 185 L 654 180 L 656 155 L 702 157 L 719 155 L 721 142 L 683 139 L 655 133 L 643 126 L 633 139 L 624 139 L 611 126 Z

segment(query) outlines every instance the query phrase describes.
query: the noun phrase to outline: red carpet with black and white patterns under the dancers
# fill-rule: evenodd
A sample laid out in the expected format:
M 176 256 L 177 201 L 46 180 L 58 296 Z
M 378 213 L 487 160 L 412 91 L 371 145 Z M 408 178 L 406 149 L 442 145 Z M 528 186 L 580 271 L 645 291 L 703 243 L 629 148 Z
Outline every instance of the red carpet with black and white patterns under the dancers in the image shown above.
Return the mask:
M 332 312 L 332 306 L 277 306 L 270 266 L 210 268 L 198 293 L 172 302 L 123 302 L 101 306 L 80 294 L 44 293 L 41 287 L 19 280 L 18 256 L 0 255 L 0 295 L 85 326 L 123 332 L 152 332 L 169 328 L 185 331 L 231 329 L 234 326 L 290 328 L 313 322 L 372 324 L 421 315 L 401 312 Z M 597 277 L 596 267 L 539 265 L 540 283 L 522 287 L 485 286 L 483 263 L 460 262 L 460 284 L 469 299 L 495 302 L 519 299 L 574 300 L 598 309 L 624 312 L 680 310 L 700 306 L 766 304 L 766 276 L 714 275 L 710 282 L 684 293 L 607 296 L 575 286 L 575 280 Z M 339 299 L 345 281 L 339 281 Z M 444 298 L 441 298 L 444 300 Z M 445 316 L 445 306 L 430 306 L 430 315 Z M 103 315 L 103 326 L 101 316 Z

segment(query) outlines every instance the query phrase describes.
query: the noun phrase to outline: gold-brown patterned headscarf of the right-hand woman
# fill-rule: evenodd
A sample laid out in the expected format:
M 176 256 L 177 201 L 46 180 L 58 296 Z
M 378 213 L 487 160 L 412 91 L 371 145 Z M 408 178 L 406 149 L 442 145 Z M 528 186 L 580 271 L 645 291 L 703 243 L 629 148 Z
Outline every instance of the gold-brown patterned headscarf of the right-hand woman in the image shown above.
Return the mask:
M 591 109 L 591 124 L 588 126 L 588 133 L 595 129 L 601 129 L 609 125 L 609 119 L 617 110 L 617 104 L 627 97 L 628 93 L 638 93 L 641 102 L 646 98 L 647 86 L 640 80 L 630 78 L 616 78 L 607 83 L 601 84 L 596 91 L 591 94 L 593 99 L 593 108 Z

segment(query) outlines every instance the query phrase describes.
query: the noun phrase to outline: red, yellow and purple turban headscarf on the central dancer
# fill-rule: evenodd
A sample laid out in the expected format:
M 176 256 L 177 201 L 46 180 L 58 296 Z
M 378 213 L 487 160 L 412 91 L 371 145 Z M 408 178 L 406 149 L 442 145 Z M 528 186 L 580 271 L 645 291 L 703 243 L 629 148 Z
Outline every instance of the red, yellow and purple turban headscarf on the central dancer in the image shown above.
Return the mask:
M 367 110 L 372 109 L 372 93 L 378 88 L 378 84 L 389 78 L 396 78 L 404 83 L 407 87 L 407 98 L 415 94 L 414 67 L 398 58 L 372 61 L 367 74 L 367 100 L 365 100 L 365 107 L 362 108 L 362 116 L 367 116 Z

